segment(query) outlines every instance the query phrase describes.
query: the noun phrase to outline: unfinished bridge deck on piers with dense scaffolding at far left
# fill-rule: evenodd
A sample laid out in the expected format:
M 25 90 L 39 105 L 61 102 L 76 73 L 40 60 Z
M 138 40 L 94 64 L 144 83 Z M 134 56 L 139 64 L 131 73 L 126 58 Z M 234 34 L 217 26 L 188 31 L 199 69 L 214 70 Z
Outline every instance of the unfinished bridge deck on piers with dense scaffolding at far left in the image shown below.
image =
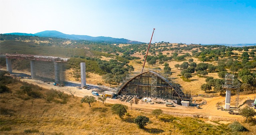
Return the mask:
M 68 57 L 4 53 L 1 53 L 0 56 L 5 57 L 7 62 L 10 59 L 30 60 L 32 79 L 59 84 L 63 84 L 66 81 L 65 67 Z M 7 69 L 11 72 L 11 63 L 8 63 Z

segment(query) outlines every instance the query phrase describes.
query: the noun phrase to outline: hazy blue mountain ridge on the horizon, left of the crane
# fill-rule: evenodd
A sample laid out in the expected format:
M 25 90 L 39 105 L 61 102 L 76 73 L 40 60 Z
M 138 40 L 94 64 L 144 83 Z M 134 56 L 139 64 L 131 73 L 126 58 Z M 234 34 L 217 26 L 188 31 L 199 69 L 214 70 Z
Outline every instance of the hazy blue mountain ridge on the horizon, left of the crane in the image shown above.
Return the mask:
M 58 31 L 43 31 L 38 32 L 35 34 L 27 34 L 27 33 L 6 33 L 6 34 L 12 34 L 12 35 L 22 35 L 22 36 L 39 36 L 39 37 L 56 37 L 56 38 L 65 38 L 70 40 L 89 40 L 89 41 L 111 41 L 116 43 L 126 43 L 126 44 L 142 44 L 142 42 L 139 41 L 131 41 L 128 39 L 118 39 L 118 38 L 111 38 L 111 37 L 91 37 L 87 35 L 69 35 L 64 34 Z

